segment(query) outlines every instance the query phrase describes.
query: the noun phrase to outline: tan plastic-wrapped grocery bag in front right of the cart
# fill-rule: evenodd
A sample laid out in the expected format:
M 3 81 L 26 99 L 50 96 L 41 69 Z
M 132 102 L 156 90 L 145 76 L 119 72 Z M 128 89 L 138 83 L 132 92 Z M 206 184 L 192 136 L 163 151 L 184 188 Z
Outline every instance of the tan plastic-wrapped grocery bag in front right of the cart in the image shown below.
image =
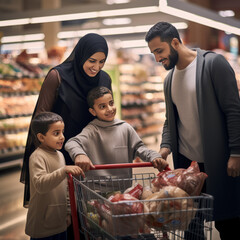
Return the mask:
M 163 187 L 147 197 L 144 202 L 145 221 L 150 228 L 179 229 L 188 228 L 197 209 L 189 195 L 175 186 Z

